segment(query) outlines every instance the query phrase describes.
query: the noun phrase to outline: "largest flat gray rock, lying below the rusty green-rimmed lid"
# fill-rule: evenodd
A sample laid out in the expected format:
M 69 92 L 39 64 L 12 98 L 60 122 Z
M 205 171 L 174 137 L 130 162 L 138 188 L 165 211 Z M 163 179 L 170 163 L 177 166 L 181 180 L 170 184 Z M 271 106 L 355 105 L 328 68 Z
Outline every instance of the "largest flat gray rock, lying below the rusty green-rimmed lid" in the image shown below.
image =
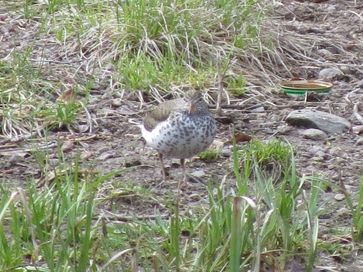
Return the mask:
M 317 128 L 326 133 L 339 133 L 351 127 L 347 119 L 315 110 L 292 111 L 287 115 L 286 122 L 299 127 Z

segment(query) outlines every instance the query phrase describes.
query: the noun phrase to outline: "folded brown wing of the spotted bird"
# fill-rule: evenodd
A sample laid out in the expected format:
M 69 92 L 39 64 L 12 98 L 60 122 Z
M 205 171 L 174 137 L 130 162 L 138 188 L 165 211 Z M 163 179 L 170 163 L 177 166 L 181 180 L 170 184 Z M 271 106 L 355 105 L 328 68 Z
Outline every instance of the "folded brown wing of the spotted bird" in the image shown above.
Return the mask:
M 155 128 L 155 126 L 159 122 L 168 119 L 168 117 L 172 112 L 183 107 L 184 104 L 185 102 L 184 99 L 182 98 L 168 100 L 159 104 L 154 110 L 148 112 L 144 117 L 143 119 L 144 127 L 148 131 L 152 131 L 152 129 Z

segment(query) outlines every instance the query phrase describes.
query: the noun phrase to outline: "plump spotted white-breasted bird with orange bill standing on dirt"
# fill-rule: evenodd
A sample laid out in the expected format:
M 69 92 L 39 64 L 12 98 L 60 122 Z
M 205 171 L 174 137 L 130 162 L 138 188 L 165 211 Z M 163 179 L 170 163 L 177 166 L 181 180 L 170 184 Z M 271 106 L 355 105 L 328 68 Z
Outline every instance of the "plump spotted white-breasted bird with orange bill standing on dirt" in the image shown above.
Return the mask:
M 146 143 L 158 152 L 163 181 L 167 180 L 163 162 L 166 156 L 180 159 L 184 184 L 188 181 L 185 159 L 208 148 L 217 131 L 216 121 L 198 90 L 160 103 L 146 113 L 140 127 Z

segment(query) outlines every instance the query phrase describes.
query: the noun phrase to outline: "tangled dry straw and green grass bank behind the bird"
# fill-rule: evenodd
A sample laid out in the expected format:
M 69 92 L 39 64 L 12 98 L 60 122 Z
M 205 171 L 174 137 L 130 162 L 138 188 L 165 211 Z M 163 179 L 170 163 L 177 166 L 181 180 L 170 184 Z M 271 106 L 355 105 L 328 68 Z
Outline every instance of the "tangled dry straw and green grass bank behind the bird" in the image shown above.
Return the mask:
M 245 9 L 249 13 L 244 17 L 234 14 L 233 7 L 211 3 L 189 3 L 189 9 L 143 7 L 151 12 L 144 20 L 112 1 L 87 1 L 83 9 L 57 5 L 51 11 L 47 2 L 26 9 L 24 3 L 0 4 L 5 49 L 0 55 L 2 134 L 10 139 L 41 137 L 54 128 L 90 132 L 97 126 L 100 98 L 138 99 L 141 108 L 169 93 L 175 97 L 199 88 L 215 104 L 221 81 L 216 60 L 225 70 L 222 94 L 227 104 L 233 103 L 231 93 L 236 91 L 229 82 L 239 76 L 244 78 L 239 92 L 263 104 L 285 78 L 314 77 L 322 67 L 363 73 L 356 50 L 362 48 L 361 40 L 352 43 L 344 33 L 339 33 L 341 39 L 315 35 L 311 40 L 314 18 L 328 20 L 334 11 L 316 12 L 305 25 L 299 23 L 305 15 L 291 12 L 297 21 L 281 25 L 280 18 L 290 15 L 276 2 L 271 13 L 276 17 L 259 27 L 271 9 L 268 3 Z M 309 5 L 299 4 L 303 9 Z M 354 11 L 347 18 L 361 20 Z M 336 48 L 344 59 L 322 58 L 319 48 Z M 72 95 L 62 99 L 67 92 Z

